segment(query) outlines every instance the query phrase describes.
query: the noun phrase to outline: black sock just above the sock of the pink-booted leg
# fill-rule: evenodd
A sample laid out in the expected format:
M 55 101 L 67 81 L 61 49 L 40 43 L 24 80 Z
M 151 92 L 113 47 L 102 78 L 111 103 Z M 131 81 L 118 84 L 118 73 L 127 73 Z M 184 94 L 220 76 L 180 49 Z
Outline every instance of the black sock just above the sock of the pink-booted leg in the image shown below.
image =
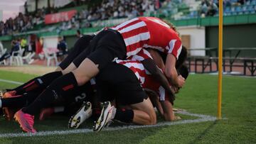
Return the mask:
M 26 85 L 20 89 L 17 89 L 16 94 L 19 95 L 31 91 L 43 91 L 43 89 L 46 89 L 54 79 L 57 79 L 62 75 L 62 72 L 50 72 L 48 74 L 44 74 L 41 77 L 37 77 L 35 80 L 31 80 L 28 84 L 26 83 Z

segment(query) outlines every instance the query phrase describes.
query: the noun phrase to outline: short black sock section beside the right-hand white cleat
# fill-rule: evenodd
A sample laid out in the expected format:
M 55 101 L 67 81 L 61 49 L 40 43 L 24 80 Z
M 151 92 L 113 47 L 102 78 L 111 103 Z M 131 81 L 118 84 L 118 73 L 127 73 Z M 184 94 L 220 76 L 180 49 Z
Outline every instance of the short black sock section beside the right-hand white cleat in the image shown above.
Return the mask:
M 124 123 L 132 123 L 134 111 L 132 109 L 117 109 L 114 120 Z

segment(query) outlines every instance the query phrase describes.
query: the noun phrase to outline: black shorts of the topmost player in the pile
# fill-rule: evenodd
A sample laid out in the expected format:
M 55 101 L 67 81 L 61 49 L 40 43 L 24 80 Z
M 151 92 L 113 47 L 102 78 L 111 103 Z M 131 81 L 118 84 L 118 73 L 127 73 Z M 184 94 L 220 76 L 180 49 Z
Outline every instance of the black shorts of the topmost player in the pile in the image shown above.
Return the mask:
M 126 59 L 126 46 L 122 35 L 112 29 L 101 31 L 91 40 L 87 50 L 78 55 L 73 63 L 78 67 L 85 58 L 99 65 L 100 70 L 115 58 Z

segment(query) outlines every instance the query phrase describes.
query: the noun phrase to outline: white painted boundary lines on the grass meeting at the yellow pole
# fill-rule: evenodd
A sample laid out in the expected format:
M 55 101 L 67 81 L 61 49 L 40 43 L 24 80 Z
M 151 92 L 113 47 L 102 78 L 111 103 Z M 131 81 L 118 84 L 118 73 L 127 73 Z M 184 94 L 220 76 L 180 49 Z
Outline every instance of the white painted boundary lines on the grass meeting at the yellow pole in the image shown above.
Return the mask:
M 136 128 L 154 128 L 159 126 L 171 126 L 178 124 L 186 124 L 186 123 L 200 123 L 205 121 L 215 121 L 217 118 L 213 116 L 197 114 L 197 113 L 188 113 L 187 111 L 177 111 L 176 113 L 181 113 L 188 116 L 196 116 L 197 119 L 193 120 L 183 120 L 183 121 L 174 121 L 174 122 L 161 122 L 156 125 L 151 126 L 118 126 L 112 128 L 105 128 L 102 131 L 117 131 L 117 130 L 125 130 L 125 129 L 136 129 Z M 92 129 L 84 128 L 78 130 L 68 130 L 68 131 L 41 131 L 38 133 L 4 133 L 0 134 L 0 138 L 14 138 L 14 137 L 30 137 L 30 136 L 46 136 L 46 135 L 67 135 L 72 133 L 92 133 Z

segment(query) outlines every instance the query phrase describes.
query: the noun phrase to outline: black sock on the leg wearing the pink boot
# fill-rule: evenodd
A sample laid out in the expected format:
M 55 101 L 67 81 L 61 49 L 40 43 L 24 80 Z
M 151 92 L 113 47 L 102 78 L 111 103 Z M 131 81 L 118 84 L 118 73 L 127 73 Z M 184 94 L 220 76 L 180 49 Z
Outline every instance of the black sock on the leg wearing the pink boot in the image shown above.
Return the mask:
M 75 79 L 73 72 L 63 75 L 55 79 L 46 89 L 33 101 L 32 104 L 22 109 L 24 113 L 35 115 L 42 108 L 48 106 L 60 96 L 67 96 L 69 91 L 78 87 L 78 82 Z

